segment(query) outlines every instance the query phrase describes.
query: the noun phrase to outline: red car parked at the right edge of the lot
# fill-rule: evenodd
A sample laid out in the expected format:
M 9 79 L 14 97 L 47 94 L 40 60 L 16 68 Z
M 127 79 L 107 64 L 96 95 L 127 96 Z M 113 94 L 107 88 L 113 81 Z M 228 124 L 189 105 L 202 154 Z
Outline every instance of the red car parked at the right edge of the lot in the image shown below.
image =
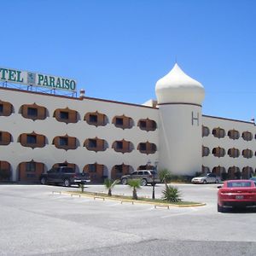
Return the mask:
M 218 212 L 224 212 L 225 207 L 256 207 L 256 186 L 252 180 L 228 180 L 218 188 Z

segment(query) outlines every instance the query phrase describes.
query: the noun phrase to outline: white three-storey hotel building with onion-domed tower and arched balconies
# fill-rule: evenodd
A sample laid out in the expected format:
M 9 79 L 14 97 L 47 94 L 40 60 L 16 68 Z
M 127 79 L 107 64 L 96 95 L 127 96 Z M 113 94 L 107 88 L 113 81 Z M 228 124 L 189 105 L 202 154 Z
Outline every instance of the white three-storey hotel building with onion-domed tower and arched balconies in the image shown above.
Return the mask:
M 143 105 L 0 87 L 0 172 L 38 181 L 52 166 L 89 172 L 95 182 L 158 163 L 173 174 L 255 173 L 253 122 L 201 113 L 201 83 L 175 64 Z M 150 164 L 149 164 L 150 165 Z

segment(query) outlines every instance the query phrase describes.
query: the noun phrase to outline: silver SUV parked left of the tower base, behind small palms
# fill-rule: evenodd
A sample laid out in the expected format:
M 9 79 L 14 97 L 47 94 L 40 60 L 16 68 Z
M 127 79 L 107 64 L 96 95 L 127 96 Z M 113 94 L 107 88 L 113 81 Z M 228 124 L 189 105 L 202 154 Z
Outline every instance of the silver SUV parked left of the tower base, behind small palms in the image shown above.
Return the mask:
M 126 185 L 128 179 L 140 179 L 142 186 L 146 186 L 148 183 L 160 183 L 160 179 L 154 170 L 139 170 L 131 172 L 130 174 L 121 177 L 121 183 Z

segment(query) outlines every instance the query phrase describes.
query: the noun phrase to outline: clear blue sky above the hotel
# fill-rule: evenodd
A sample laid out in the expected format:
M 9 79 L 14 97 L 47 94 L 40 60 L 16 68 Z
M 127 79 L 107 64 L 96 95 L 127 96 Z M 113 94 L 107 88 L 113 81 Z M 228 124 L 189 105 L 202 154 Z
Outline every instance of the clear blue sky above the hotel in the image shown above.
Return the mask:
M 143 103 L 177 59 L 203 113 L 256 118 L 256 1 L 0 0 L 1 67 L 78 81 L 86 96 Z

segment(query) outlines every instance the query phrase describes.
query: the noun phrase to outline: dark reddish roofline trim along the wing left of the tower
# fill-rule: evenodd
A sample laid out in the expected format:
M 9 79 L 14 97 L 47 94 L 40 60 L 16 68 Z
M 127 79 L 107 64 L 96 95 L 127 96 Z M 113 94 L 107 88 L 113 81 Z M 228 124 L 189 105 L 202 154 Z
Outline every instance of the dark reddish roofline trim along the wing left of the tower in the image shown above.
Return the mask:
M 24 93 L 29 93 L 29 94 L 37 94 L 37 95 L 42 95 L 42 96 L 61 97 L 61 98 L 66 98 L 66 99 L 70 99 L 70 100 L 77 100 L 77 101 L 83 101 L 85 99 L 85 100 L 96 101 L 96 102 L 108 102 L 108 103 L 122 104 L 122 105 L 128 105 L 128 106 L 133 106 L 133 107 L 158 109 L 156 107 L 144 106 L 144 105 L 135 104 L 135 103 L 117 102 L 117 101 L 105 100 L 105 99 L 88 97 L 88 96 L 73 97 L 73 96 L 54 95 L 54 94 L 50 94 L 50 93 L 46 93 L 46 92 L 38 92 L 38 91 L 32 91 L 32 90 L 21 90 L 21 89 L 1 87 L 1 86 L 0 86 L 0 90 L 14 90 L 14 91 L 24 92 Z

